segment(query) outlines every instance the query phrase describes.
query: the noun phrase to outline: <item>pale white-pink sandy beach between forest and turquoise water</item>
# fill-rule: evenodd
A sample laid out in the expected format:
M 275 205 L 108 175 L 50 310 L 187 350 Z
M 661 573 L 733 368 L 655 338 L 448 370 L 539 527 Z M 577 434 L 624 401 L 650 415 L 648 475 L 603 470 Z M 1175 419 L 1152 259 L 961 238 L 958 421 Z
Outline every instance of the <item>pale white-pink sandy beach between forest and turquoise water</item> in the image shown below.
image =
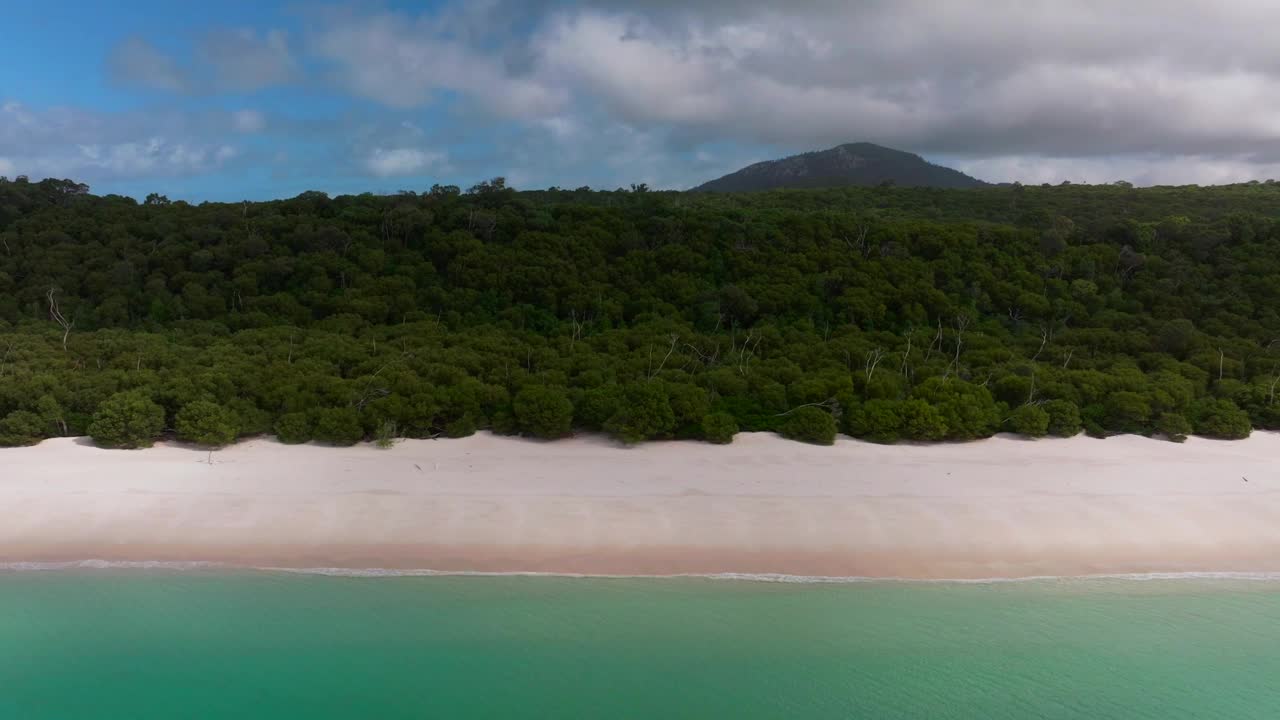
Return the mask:
M 1280 571 L 1280 436 L 728 447 L 480 434 L 0 450 L 0 562 L 991 578 Z M 1243 478 L 1248 478 L 1245 482 Z

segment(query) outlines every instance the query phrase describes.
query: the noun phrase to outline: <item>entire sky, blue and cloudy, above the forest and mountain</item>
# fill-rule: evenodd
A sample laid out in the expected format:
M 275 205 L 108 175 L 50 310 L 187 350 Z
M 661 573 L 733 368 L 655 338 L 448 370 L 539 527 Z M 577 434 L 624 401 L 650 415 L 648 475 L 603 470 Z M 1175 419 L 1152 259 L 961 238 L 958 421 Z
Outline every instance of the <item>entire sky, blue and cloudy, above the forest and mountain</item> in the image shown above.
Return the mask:
M 1280 178 L 1274 0 L 0 0 L 0 176 L 241 200 L 684 190 L 844 142 Z

